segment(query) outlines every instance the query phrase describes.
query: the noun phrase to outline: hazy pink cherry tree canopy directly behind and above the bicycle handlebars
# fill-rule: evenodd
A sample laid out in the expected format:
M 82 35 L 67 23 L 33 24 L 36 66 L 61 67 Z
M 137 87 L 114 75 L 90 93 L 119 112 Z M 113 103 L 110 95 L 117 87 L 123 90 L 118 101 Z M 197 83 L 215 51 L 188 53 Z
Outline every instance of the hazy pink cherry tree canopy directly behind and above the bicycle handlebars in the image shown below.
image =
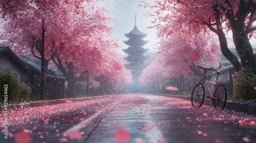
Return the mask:
M 212 39 L 209 41 L 208 39 Z M 210 66 L 211 61 L 219 60 L 219 44 L 213 35 L 202 35 L 197 37 L 191 45 L 183 36 L 175 36 L 160 41 L 157 56 L 162 57 L 162 64 L 172 66 L 175 75 L 184 75 L 193 78 L 198 75 L 200 66 Z

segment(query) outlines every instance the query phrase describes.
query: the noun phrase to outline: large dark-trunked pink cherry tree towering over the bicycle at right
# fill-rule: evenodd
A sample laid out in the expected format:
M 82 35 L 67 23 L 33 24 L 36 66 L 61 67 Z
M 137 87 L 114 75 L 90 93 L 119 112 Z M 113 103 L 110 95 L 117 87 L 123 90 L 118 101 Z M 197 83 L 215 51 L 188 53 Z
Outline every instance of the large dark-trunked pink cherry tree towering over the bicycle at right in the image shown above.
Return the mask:
M 254 33 L 256 5 L 248 1 L 156 1 L 155 5 L 141 2 L 140 6 L 155 8 L 155 26 L 158 37 L 182 34 L 195 41 L 194 35 L 199 31 L 210 30 L 218 35 L 222 54 L 230 61 L 236 71 L 242 67 L 250 67 L 256 74 L 256 58 L 253 56 L 249 37 Z M 228 49 L 224 30 L 231 30 L 233 42 L 239 53 L 241 64 Z

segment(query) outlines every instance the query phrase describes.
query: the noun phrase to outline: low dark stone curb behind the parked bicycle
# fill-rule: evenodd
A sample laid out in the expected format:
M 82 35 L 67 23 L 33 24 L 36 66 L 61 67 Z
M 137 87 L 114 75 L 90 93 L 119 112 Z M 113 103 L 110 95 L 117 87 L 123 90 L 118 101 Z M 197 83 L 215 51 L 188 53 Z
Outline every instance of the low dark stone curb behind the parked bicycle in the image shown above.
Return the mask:
M 169 95 L 169 94 L 158 94 L 160 96 L 165 97 L 172 97 L 172 98 L 178 98 L 178 99 L 185 99 L 185 100 L 191 100 L 190 96 L 175 96 L 175 95 Z M 204 99 L 205 105 L 213 106 L 210 99 Z M 224 109 L 234 110 L 238 112 L 243 112 L 251 115 L 256 115 L 256 103 L 252 101 L 230 101 L 227 100 L 227 103 L 225 105 Z

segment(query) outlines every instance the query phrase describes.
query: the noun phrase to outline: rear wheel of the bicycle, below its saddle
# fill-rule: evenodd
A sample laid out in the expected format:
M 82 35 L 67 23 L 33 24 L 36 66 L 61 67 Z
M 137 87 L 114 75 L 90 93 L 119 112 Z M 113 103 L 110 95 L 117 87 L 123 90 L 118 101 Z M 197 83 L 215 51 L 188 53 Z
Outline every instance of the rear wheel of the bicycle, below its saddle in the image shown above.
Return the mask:
M 227 102 L 227 90 L 224 85 L 217 87 L 214 97 L 214 107 L 224 109 Z

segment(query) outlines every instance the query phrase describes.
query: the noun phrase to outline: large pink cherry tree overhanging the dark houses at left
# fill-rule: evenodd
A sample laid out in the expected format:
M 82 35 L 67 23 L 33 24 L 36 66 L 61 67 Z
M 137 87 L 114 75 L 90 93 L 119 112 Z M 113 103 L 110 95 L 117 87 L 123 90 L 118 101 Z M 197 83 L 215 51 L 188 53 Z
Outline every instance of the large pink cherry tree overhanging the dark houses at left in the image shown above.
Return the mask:
M 49 61 L 53 60 L 67 76 L 68 96 L 73 97 L 73 83 L 87 72 L 95 75 L 104 61 L 104 51 L 110 51 L 106 48 L 117 47 L 115 41 L 105 39 L 110 37 L 112 26 L 109 22 L 113 19 L 105 16 L 109 11 L 97 6 L 99 2 L 1 1 L 0 12 L 4 18 L 1 39 L 19 55 L 31 52 L 45 61 L 46 73 Z M 42 20 L 46 25 L 44 56 L 41 49 Z M 100 59 L 102 62 L 98 62 Z M 76 75 L 79 76 L 75 78 Z

